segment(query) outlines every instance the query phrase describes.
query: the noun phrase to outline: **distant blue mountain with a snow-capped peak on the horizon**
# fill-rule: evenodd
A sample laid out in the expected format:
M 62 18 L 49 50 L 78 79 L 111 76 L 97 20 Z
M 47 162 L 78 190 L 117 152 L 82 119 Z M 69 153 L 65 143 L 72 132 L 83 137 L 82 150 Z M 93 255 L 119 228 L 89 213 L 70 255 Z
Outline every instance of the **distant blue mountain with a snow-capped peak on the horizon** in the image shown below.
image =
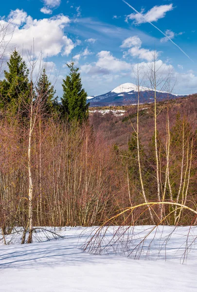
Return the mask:
M 157 91 L 158 101 L 168 98 L 175 99 L 177 96 L 177 94 Z M 105 94 L 89 97 L 90 107 L 136 104 L 137 100 L 138 87 L 133 83 L 124 83 Z M 151 103 L 153 101 L 154 91 L 150 88 L 140 86 L 140 103 Z

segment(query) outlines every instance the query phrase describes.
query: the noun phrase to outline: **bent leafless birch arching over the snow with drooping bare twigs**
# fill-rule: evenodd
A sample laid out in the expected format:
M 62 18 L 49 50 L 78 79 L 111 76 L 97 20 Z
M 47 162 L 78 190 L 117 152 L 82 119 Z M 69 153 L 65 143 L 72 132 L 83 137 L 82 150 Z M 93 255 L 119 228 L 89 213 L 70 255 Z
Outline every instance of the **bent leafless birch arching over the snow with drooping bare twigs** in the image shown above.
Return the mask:
M 177 205 L 178 208 L 182 208 L 185 212 L 189 211 L 194 214 L 193 222 L 197 218 L 197 210 L 186 205 L 173 202 L 140 204 L 124 209 L 121 213 L 107 220 L 102 226 L 93 229 L 83 249 L 94 254 L 115 253 L 134 259 L 166 259 L 168 250 L 172 252 L 171 249 L 175 249 L 177 254 L 174 253 L 173 256 L 178 257 L 182 263 L 186 263 L 189 252 L 195 248 L 197 227 L 190 226 L 188 230 L 188 227 L 169 226 L 166 232 L 166 226 L 161 225 L 162 221 L 154 226 L 137 225 L 137 220 L 140 216 L 147 213 L 148 206 L 154 212 L 154 207 L 158 204 Z M 139 212 L 139 216 L 134 222 L 136 225 L 114 225 L 115 219 L 121 216 L 122 213 L 126 213 L 131 218 L 131 214 L 135 209 L 138 209 Z M 172 212 L 175 212 L 175 210 Z M 170 240 L 174 234 L 177 234 L 177 241 L 171 243 Z M 171 244 L 171 247 L 169 247 L 169 244 Z

